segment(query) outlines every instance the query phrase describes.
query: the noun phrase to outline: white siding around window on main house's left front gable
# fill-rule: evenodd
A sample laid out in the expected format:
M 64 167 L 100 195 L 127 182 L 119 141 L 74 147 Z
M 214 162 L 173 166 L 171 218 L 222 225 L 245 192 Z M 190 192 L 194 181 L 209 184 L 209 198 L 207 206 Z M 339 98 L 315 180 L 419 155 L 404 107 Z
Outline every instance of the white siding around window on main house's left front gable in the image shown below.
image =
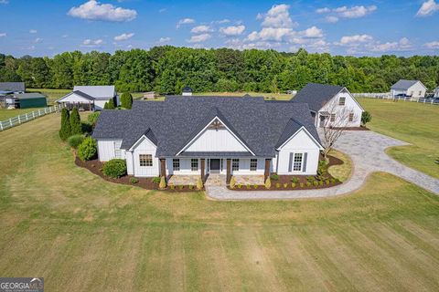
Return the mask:
M 142 138 L 141 141 L 136 143 L 133 151 L 133 164 L 134 164 L 134 176 L 158 176 L 160 174 L 160 162 L 158 158 L 155 158 L 156 147 L 154 143 L 146 138 Z M 153 166 L 140 166 L 139 155 L 150 154 L 153 156 Z M 128 163 L 127 163 L 128 164 Z

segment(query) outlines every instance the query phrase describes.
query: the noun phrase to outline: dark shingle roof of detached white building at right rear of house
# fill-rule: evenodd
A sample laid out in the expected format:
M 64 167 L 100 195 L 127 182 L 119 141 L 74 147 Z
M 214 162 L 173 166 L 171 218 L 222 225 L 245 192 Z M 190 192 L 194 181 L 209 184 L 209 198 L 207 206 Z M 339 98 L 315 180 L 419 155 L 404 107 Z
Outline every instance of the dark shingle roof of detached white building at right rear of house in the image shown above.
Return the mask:
M 318 111 L 342 89 L 344 87 L 337 85 L 308 83 L 291 100 L 307 103 L 310 110 Z

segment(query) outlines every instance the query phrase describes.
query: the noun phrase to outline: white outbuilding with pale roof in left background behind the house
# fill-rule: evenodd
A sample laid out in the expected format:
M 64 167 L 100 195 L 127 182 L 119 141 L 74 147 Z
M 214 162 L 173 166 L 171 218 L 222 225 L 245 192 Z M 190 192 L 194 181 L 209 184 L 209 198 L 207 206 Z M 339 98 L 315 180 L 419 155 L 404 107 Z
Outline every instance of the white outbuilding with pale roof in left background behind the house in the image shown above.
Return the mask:
M 119 105 L 119 97 L 113 85 L 105 86 L 75 86 L 73 91 L 57 100 L 65 103 L 68 109 L 103 110 L 106 102 L 114 100 L 114 105 Z

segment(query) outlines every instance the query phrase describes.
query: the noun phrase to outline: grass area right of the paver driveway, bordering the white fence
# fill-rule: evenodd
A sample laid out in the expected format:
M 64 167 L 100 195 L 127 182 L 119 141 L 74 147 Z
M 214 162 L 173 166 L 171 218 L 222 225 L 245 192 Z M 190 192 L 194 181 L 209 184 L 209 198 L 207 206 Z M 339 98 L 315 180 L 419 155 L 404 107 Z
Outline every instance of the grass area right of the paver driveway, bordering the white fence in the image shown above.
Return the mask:
M 359 102 L 372 114 L 371 130 L 412 144 L 389 149 L 393 158 L 439 178 L 439 106 L 386 99 Z

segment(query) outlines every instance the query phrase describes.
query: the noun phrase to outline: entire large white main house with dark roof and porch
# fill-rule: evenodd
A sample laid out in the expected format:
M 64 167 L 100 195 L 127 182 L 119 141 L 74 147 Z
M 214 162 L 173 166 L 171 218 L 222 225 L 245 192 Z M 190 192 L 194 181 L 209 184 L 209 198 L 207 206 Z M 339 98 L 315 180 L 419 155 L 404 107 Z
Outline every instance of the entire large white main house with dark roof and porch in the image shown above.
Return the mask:
M 127 126 L 129 125 L 129 126 Z M 126 160 L 137 177 L 315 175 L 323 150 L 306 104 L 263 98 L 166 97 L 103 110 L 99 160 Z

